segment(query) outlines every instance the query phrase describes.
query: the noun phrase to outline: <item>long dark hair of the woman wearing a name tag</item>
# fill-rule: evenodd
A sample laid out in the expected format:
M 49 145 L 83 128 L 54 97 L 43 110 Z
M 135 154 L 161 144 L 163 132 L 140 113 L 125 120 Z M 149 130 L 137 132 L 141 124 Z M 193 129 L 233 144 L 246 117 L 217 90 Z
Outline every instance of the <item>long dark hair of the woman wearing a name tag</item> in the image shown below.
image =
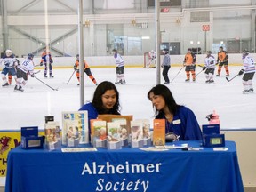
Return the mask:
M 153 92 L 154 95 L 161 95 L 164 98 L 165 101 L 165 105 L 167 105 L 169 111 L 174 115 L 176 113 L 176 111 L 178 110 L 178 108 L 180 107 L 180 105 L 178 105 L 176 103 L 176 101 L 173 98 L 172 92 L 169 90 L 168 87 L 166 87 L 163 84 L 157 84 L 155 87 L 153 87 L 149 92 L 148 92 L 148 100 L 150 100 L 150 93 Z M 156 110 L 156 108 L 155 108 Z M 160 110 L 156 110 L 156 116 L 159 114 L 164 113 L 164 111 Z

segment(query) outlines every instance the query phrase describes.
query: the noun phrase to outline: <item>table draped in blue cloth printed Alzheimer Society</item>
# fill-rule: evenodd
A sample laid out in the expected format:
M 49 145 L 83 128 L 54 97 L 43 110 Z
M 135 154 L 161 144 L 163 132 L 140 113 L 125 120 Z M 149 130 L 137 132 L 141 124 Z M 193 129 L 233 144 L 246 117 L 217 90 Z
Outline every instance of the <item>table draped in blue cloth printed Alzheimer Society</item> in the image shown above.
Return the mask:
M 197 141 L 186 143 L 200 147 Z M 8 156 L 5 191 L 242 192 L 236 143 L 226 141 L 226 148 L 65 153 L 14 148 Z

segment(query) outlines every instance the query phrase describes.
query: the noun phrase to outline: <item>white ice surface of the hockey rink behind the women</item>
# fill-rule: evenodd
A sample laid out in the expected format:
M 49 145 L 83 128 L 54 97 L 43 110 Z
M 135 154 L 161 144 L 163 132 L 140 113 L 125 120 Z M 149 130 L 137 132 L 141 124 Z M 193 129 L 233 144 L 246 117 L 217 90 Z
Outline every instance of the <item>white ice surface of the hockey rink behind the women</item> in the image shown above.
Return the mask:
M 181 67 L 169 71 L 170 80 Z M 229 67 L 230 77 L 236 76 L 242 67 Z M 202 68 L 196 67 L 196 74 Z M 91 68 L 92 75 L 98 83 L 108 80 L 116 81 L 116 68 Z M 52 115 L 60 121 L 62 111 L 74 111 L 80 108 L 80 92 L 76 75 L 67 84 L 73 69 L 53 69 L 53 79 L 44 79 L 44 71 L 36 75 L 46 84 L 58 91 L 52 91 L 35 78 L 30 78 L 24 92 L 13 92 L 14 84 L 0 87 L 1 125 L 0 130 L 17 130 L 21 126 L 39 126 L 44 128 L 44 116 Z M 133 115 L 133 119 L 147 118 L 152 120 L 154 111 L 147 98 L 149 89 L 156 84 L 156 68 L 125 68 L 126 85 L 117 84 L 120 93 L 122 115 Z M 162 77 L 162 74 L 161 74 Z M 223 128 L 256 128 L 256 93 L 243 94 L 242 76 L 231 82 L 225 79 L 224 70 L 220 77 L 214 77 L 214 84 L 205 84 L 204 72 L 196 76 L 196 83 L 185 83 L 185 71 L 182 69 L 172 84 L 171 89 L 177 103 L 191 108 L 199 124 L 207 124 L 205 118 L 213 109 L 220 115 L 220 127 Z M 164 82 L 163 78 L 161 82 Z M 2 82 L 1 82 L 2 84 Z M 253 79 L 255 85 L 255 76 Z M 96 86 L 84 74 L 84 100 L 92 100 Z M 256 85 L 254 86 L 256 89 Z

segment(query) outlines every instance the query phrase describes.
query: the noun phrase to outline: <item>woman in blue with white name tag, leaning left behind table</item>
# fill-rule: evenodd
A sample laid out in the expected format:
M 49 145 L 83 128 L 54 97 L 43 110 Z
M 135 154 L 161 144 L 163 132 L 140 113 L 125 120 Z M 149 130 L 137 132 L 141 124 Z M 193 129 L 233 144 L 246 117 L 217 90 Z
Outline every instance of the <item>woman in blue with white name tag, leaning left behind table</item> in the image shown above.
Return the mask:
M 156 110 L 156 119 L 165 119 L 165 134 L 173 140 L 202 140 L 202 132 L 192 110 L 178 105 L 172 92 L 163 84 L 157 84 L 148 92 Z

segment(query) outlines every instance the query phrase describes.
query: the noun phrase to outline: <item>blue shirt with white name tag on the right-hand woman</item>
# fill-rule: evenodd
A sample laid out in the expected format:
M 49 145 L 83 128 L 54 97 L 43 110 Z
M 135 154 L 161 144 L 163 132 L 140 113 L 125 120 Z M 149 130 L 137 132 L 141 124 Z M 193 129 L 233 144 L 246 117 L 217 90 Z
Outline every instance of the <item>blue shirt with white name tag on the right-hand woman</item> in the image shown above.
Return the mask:
M 164 113 L 160 112 L 156 119 L 165 119 Z M 179 140 L 202 140 L 202 132 L 192 110 L 180 106 L 173 115 L 171 123 L 165 120 L 165 133 L 173 132 L 179 135 Z

